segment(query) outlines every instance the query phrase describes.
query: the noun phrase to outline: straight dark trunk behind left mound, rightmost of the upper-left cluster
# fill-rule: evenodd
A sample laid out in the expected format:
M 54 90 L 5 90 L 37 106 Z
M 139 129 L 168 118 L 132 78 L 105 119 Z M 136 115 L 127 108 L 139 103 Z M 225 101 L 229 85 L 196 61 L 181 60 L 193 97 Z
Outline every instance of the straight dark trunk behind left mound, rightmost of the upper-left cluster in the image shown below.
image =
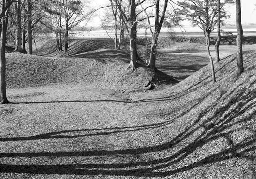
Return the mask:
M 32 43 L 32 20 L 31 20 L 31 10 L 32 3 L 31 0 L 28 0 L 28 21 L 27 21 L 27 31 L 28 31 L 28 54 L 33 54 L 33 43 Z

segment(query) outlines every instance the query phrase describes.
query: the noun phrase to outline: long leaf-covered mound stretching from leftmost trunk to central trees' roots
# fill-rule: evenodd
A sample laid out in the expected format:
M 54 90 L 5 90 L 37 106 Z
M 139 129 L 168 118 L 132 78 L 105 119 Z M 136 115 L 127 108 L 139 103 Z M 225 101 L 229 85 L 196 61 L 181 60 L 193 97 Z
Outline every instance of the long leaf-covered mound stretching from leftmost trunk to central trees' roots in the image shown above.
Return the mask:
M 149 89 L 149 82 L 157 81 L 159 84 L 162 79 L 156 79 L 156 75 L 147 68 L 140 67 L 135 72 L 127 70 L 128 56 L 118 50 L 91 51 L 76 54 L 72 58 L 42 57 L 15 52 L 7 53 L 6 58 L 8 88 L 82 82 L 88 86 L 128 92 Z M 163 80 L 166 81 L 166 77 Z

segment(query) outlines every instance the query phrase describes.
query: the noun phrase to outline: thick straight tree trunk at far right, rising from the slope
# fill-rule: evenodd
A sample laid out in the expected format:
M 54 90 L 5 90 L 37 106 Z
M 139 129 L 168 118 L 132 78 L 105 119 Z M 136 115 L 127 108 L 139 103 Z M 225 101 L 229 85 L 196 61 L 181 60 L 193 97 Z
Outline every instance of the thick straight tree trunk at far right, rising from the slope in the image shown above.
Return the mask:
M 241 2 L 236 0 L 236 29 L 237 29 L 237 38 L 236 38 L 236 63 L 237 63 L 237 73 L 241 74 L 244 72 L 243 64 L 243 49 L 242 49 L 242 38 L 243 38 L 243 28 L 241 23 Z

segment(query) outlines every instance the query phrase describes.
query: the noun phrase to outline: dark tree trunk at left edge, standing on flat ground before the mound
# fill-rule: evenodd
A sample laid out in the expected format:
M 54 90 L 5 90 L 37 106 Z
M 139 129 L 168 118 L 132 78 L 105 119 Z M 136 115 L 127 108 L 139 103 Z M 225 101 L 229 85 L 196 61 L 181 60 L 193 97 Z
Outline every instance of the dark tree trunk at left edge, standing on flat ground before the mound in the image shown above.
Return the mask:
M 7 0 L 2 0 L 2 12 L 4 12 L 5 4 L 8 3 Z M 2 33 L 1 33 L 1 42 L 0 42 L 0 103 L 8 103 L 6 97 L 6 58 L 5 58 L 5 44 L 6 44 L 6 31 L 8 26 L 8 13 L 9 10 L 5 12 L 5 16 L 2 17 Z

